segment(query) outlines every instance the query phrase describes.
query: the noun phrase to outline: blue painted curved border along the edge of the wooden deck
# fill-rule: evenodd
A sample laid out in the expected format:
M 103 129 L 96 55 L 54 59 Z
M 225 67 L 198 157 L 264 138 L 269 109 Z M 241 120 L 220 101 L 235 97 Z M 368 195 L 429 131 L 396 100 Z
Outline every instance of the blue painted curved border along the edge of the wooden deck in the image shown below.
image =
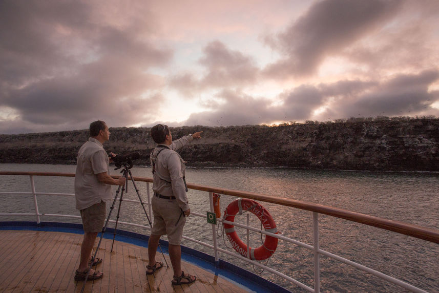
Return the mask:
M 64 232 L 73 234 L 83 234 L 82 225 L 75 223 L 58 223 L 58 222 L 0 222 L 0 230 L 32 230 L 32 231 L 48 231 L 48 232 Z M 105 239 L 113 239 L 114 229 L 107 228 L 103 235 Z M 98 234 L 98 237 L 101 233 Z M 134 232 L 128 232 L 117 229 L 115 240 L 135 244 L 140 247 L 148 247 L 149 236 Z M 168 253 L 168 241 L 160 240 L 160 246 L 163 253 Z M 159 250 L 160 251 L 160 250 Z M 255 292 L 290 292 L 285 288 L 268 281 L 251 271 L 245 270 L 232 263 L 219 260 L 215 265 L 215 258 L 211 255 L 200 252 L 196 249 L 181 246 L 184 261 L 201 267 L 211 273 L 218 275 L 228 281 L 243 287 L 246 290 Z

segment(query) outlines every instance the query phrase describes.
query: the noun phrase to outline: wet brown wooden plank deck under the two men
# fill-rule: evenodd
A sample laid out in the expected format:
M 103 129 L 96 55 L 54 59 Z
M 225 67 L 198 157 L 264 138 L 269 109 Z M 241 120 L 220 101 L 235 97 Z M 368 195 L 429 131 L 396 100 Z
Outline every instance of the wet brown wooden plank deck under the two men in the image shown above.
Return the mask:
M 0 239 L 1 292 L 80 292 L 82 289 L 83 282 L 73 280 L 82 235 L 0 231 Z M 165 265 L 147 276 L 146 248 L 115 241 L 111 253 L 111 242 L 102 239 L 99 247 L 98 257 L 103 261 L 97 269 L 103 271 L 103 278 L 88 281 L 85 292 L 245 292 L 244 288 L 184 261 L 183 270 L 197 276 L 197 280 L 189 285 L 172 286 L 169 255 L 165 257 L 170 267 Z M 160 253 L 157 261 L 163 261 Z

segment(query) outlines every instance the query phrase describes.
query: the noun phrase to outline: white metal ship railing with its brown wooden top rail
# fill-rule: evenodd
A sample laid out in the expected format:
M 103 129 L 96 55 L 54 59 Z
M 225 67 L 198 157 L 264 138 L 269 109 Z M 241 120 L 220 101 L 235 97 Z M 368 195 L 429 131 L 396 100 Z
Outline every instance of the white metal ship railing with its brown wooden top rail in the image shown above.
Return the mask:
M 0 216 L 35 216 L 36 222 L 38 224 L 40 223 L 41 217 L 65 217 L 65 218 L 80 219 L 80 216 L 75 216 L 75 215 L 40 213 L 38 210 L 37 196 L 40 196 L 40 195 L 74 196 L 74 194 L 36 192 L 35 184 L 34 184 L 34 180 L 33 180 L 34 176 L 74 177 L 75 174 L 72 174 L 72 173 L 40 173 L 40 172 L 0 172 L 0 175 L 29 176 L 30 183 L 31 183 L 31 192 L 0 192 L 0 195 L 29 195 L 29 196 L 33 197 L 34 205 L 35 205 L 35 213 L 32 213 L 32 214 L 31 213 L 0 213 Z M 112 177 L 118 178 L 119 176 L 112 176 Z M 133 177 L 133 179 L 135 181 L 146 182 L 148 202 L 144 202 L 144 203 L 148 205 L 149 214 L 152 215 L 151 204 L 150 204 L 151 203 L 150 183 L 153 182 L 153 179 L 152 178 L 145 178 L 145 177 Z M 193 238 L 190 238 L 190 237 L 187 237 L 187 236 L 183 236 L 183 238 L 186 240 L 189 240 L 189 241 L 192 241 L 192 242 L 201 244 L 205 247 L 213 249 L 213 253 L 214 253 L 216 262 L 218 262 L 218 260 L 219 260 L 219 253 L 227 254 L 229 256 L 232 256 L 232 257 L 238 258 L 240 260 L 249 262 L 249 263 L 253 264 L 254 266 L 258 266 L 260 268 L 263 268 L 263 269 L 269 271 L 270 273 L 275 274 L 275 275 L 277 275 L 277 276 L 279 276 L 279 277 L 281 277 L 281 278 L 283 278 L 291 283 L 294 283 L 297 286 L 299 286 L 299 287 L 301 287 L 309 292 L 318 293 L 318 292 L 320 292 L 320 255 L 324 255 L 324 256 L 327 256 L 327 257 L 332 258 L 334 260 L 337 260 L 341 263 L 356 267 L 362 271 L 365 271 L 366 273 L 377 276 L 377 277 L 379 277 L 383 280 L 386 280 L 390 283 L 399 285 L 399 286 L 401 286 L 409 291 L 426 292 L 425 290 L 417 288 L 417 287 L 415 287 L 407 282 L 403 282 L 399 279 L 396 279 L 396 278 L 393 278 L 393 277 L 388 276 L 386 274 L 383 274 L 380 271 L 371 269 L 371 268 L 366 267 L 364 265 L 361 265 L 359 263 L 350 261 L 348 259 L 331 254 L 323 249 L 320 249 L 320 247 L 319 247 L 319 214 L 325 214 L 325 215 L 329 215 L 332 217 L 337 217 L 337 218 L 341 218 L 341 219 L 345 219 L 345 220 L 349 220 L 349 221 L 353 221 L 353 222 L 357 222 L 357 223 L 361 223 L 361 224 L 365 224 L 365 225 L 369 225 L 369 226 L 374 226 L 374 227 L 386 229 L 388 231 L 392 231 L 395 233 L 400 233 L 400 234 L 404 234 L 407 236 L 423 239 L 425 241 L 429 241 L 429 242 L 433 242 L 433 243 L 439 243 L 439 231 L 425 228 L 422 226 L 406 224 L 406 223 L 402 223 L 402 222 L 398 222 L 398 221 L 387 220 L 387 219 L 383 219 L 383 218 L 379 218 L 379 217 L 374 217 L 374 216 L 369 216 L 369 215 L 365 215 L 365 214 L 360 214 L 360 213 L 356 213 L 356 212 L 343 210 L 340 208 L 335 208 L 335 207 L 330 207 L 330 206 L 325 206 L 325 205 L 320 205 L 320 204 L 313 204 L 313 203 L 308 203 L 308 202 L 299 201 L 299 200 L 278 198 L 278 197 L 272 197 L 272 196 L 267 196 L 267 195 L 263 195 L 263 194 L 249 193 L 249 192 L 236 191 L 236 190 L 220 189 L 217 187 L 203 186 L 203 185 L 190 184 L 190 183 L 187 184 L 187 187 L 189 189 L 204 191 L 204 192 L 208 193 L 212 213 L 214 212 L 213 193 L 217 193 L 217 194 L 221 194 L 221 195 L 228 195 L 228 196 L 237 196 L 237 197 L 241 197 L 241 198 L 248 198 L 248 199 L 253 199 L 253 200 L 257 200 L 257 201 L 264 201 L 264 202 L 269 202 L 269 203 L 280 204 L 283 206 L 300 208 L 301 210 L 310 211 L 312 213 L 313 245 L 309 245 L 309 244 L 306 244 L 306 243 L 303 243 L 303 242 L 300 242 L 300 241 L 297 241 L 297 240 L 294 240 L 294 239 L 291 239 L 288 237 L 284 237 L 282 235 L 265 232 L 264 230 L 249 226 L 248 224 L 242 225 L 242 224 L 239 224 L 236 222 L 225 221 L 222 218 L 217 219 L 217 222 L 218 223 L 233 224 L 234 226 L 247 229 L 247 231 L 255 231 L 258 233 L 262 233 L 265 235 L 276 237 L 279 240 L 293 243 L 293 244 L 299 245 L 301 247 L 312 250 L 313 259 L 314 259 L 314 288 L 311 288 L 311 287 L 299 282 L 298 280 L 295 280 L 289 276 L 286 276 L 285 274 L 281 273 L 280 271 L 277 271 L 273 268 L 265 266 L 257 261 L 247 259 L 247 258 L 242 257 L 241 255 L 239 255 L 237 253 L 229 252 L 228 250 L 225 250 L 225 249 L 218 247 L 217 237 L 216 237 L 216 225 L 215 224 L 207 224 L 207 225 L 212 226 L 213 245 L 196 240 L 196 239 L 193 239 Z M 128 202 L 140 203 L 140 201 L 137 201 L 137 200 L 130 200 L 130 199 L 123 199 L 123 200 L 128 201 Z M 201 217 L 201 218 L 207 218 L 207 216 L 205 214 L 200 214 L 200 213 L 197 213 L 194 211 L 191 211 L 191 215 Z M 116 222 L 116 221 L 110 220 L 110 222 Z M 118 223 L 130 225 L 130 226 L 135 226 L 135 227 L 141 227 L 141 228 L 145 228 L 147 230 L 150 230 L 150 227 L 145 226 L 145 225 L 139 225 L 139 224 L 135 224 L 135 223 L 128 223 L 128 222 L 122 222 L 122 221 L 118 221 Z M 248 223 L 248 221 L 247 221 L 247 223 Z M 247 246 L 248 246 L 248 243 L 247 243 Z

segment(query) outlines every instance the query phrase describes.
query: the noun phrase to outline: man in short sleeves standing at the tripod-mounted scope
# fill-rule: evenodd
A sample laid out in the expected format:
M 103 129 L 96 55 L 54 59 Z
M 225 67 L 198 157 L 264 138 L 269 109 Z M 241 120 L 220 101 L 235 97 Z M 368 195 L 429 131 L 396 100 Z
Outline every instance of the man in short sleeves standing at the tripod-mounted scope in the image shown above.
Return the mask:
M 110 131 L 103 121 L 94 121 L 90 124 L 90 138 L 79 149 L 76 175 L 75 197 L 76 208 L 82 218 L 84 237 L 81 244 L 79 267 L 76 270 L 75 280 L 86 279 L 90 265 L 97 265 L 102 259 L 92 259 L 96 236 L 102 231 L 106 216 L 106 202 L 111 200 L 111 185 L 125 184 L 125 178 L 113 179 L 108 174 L 110 158 L 103 149 L 102 143 L 110 138 Z M 103 273 L 90 270 L 87 280 L 102 278 Z

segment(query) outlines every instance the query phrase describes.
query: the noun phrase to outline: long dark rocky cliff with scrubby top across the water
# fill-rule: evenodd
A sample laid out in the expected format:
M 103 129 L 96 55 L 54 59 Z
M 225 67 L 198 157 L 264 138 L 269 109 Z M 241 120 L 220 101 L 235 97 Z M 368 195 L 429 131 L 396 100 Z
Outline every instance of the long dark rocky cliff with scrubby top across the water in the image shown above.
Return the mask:
M 304 123 L 278 127 L 171 128 L 174 139 L 203 131 L 179 151 L 188 166 L 439 171 L 439 119 Z M 110 128 L 104 148 L 139 152 L 149 165 L 155 147 L 147 128 Z M 88 130 L 0 135 L 0 163 L 75 164 Z

